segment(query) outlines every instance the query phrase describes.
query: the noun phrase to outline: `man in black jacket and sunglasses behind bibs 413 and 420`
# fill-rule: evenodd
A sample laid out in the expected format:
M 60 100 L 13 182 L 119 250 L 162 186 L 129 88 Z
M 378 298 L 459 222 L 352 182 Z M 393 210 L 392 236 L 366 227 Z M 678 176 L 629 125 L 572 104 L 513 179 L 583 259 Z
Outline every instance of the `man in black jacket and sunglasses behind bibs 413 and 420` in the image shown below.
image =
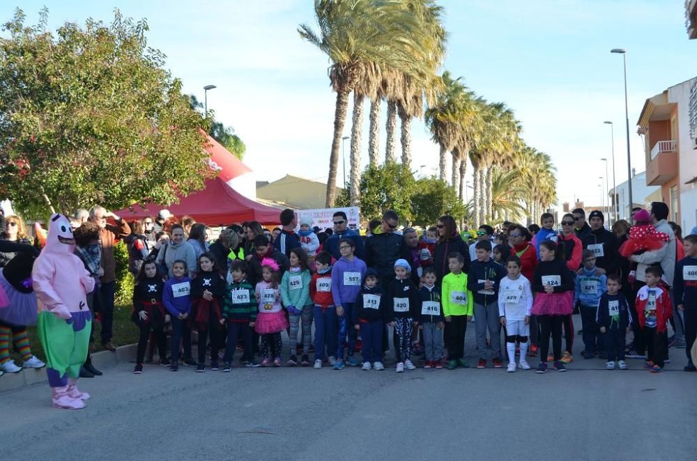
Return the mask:
M 365 240 L 365 264 L 378 272 L 383 287 L 395 278 L 395 261 L 401 258 L 401 235 L 395 234 L 399 217 L 394 210 L 383 214 L 380 226 Z

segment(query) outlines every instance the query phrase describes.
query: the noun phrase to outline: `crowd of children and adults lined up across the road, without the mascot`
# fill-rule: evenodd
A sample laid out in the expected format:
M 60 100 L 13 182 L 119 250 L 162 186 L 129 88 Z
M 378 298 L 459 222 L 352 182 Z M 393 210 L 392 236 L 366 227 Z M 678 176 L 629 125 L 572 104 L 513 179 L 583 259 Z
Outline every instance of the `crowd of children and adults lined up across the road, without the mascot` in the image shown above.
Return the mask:
M 473 241 L 447 215 L 423 230 L 398 231 L 392 210 L 369 221 L 365 237 L 348 228 L 342 211 L 322 230 L 283 210 L 273 230 L 256 221 L 232 224 L 213 242 L 208 226 L 167 210 L 127 223 L 95 206 L 77 210 L 70 225 L 75 255 L 95 285 L 87 304 L 99 313 L 100 341 L 112 351 L 114 243 L 128 246 L 132 321 L 140 333 L 136 374 L 155 352 L 172 371 L 185 365 L 229 372 L 238 350 L 238 366 L 384 370 L 390 330 L 397 373 L 417 364 L 468 368 L 470 322 L 476 368 L 503 368 L 506 360 L 508 372 L 528 370 L 528 357 L 539 356 L 537 373 L 548 364 L 565 371 L 574 361 L 574 313 L 581 315 L 584 360 L 627 369 L 627 358 L 644 359 L 659 373 L 669 347 L 684 347 L 684 369 L 695 371 L 689 351 L 697 332 L 697 235 L 683 238 L 668 223 L 665 203 L 632 214 L 634 226 L 618 220 L 608 230 L 602 212 L 592 211 L 586 222 L 579 208 L 562 217 L 558 231 L 545 213 L 542 227 L 484 224 Z M 38 249 L 20 217 L 3 217 L 0 227 L 0 295 L 11 295 L 26 284 L 13 260 Z M 10 311 L 0 308 L 0 370 L 44 366 L 26 335 L 36 316 L 18 320 Z M 22 367 L 10 359 L 10 338 Z M 80 376 L 94 375 L 101 372 L 88 352 Z

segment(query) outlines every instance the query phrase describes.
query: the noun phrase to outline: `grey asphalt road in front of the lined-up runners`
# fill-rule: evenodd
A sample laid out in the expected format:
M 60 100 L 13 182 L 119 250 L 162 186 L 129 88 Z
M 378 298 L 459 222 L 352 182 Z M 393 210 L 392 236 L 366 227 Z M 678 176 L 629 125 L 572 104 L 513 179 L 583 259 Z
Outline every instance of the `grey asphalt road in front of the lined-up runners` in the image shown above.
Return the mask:
M 579 322 L 576 325 L 580 325 Z M 0 459 L 695 460 L 697 373 L 577 359 L 567 373 L 118 365 L 82 410 L 36 384 L 0 393 Z M 477 359 L 474 328 L 466 354 Z M 388 360 L 389 362 L 389 360 Z M 537 359 L 530 359 L 537 364 Z M 490 365 L 491 366 L 491 365 Z M 2 379 L 2 378 L 0 378 Z

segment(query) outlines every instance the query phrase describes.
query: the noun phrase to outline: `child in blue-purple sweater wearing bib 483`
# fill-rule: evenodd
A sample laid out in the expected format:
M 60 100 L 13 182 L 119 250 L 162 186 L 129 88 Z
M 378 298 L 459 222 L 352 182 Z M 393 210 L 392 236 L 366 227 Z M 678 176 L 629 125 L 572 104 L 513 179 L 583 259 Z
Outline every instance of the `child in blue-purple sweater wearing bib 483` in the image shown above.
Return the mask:
M 189 314 L 191 313 L 191 279 L 187 274 L 186 262 L 176 260 L 172 265 L 172 278 L 164 283 L 162 292 L 162 304 L 171 315 L 171 365 L 170 371 L 179 370 L 179 345 L 183 343 L 184 354 L 182 361 L 188 366 L 198 364 L 191 357 L 191 326 Z

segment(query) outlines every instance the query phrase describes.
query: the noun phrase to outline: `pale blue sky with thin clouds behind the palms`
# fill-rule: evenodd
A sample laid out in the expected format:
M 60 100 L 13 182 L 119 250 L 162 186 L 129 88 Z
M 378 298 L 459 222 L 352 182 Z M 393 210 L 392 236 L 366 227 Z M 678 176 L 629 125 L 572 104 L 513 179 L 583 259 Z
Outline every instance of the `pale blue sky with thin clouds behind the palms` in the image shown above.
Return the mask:
M 326 180 L 335 105 L 329 63 L 296 32 L 302 22 L 315 25 L 312 0 L 4 0 L 0 19 L 9 19 L 20 3 L 32 24 L 46 5 L 52 29 L 86 17 L 108 22 L 114 7 L 146 18 L 149 45 L 167 54 L 167 66 L 185 92 L 203 100 L 203 86 L 217 85 L 208 93 L 208 107 L 245 141 L 245 163 L 257 179 L 293 174 Z M 636 135 L 643 102 L 697 75 L 697 40 L 687 38 L 682 0 L 440 3 L 450 34 L 445 68 L 487 100 L 514 109 L 526 142 L 556 164 L 560 204 L 576 197 L 587 204 L 601 200 L 600 158 L 609 158 L 611 148 L 603 120 L 615 124 L 617 182 L 627 179 L 622 58 L 611 48 L 629 51 L 630 145 L 637 171 L 645 169 Z M 344 132 L 350 131 L 347 123 Z M 383 128 L 382 148 L 384 142 Z M 413 150 L 413 169 L 426 165 L 423 173 L 433 173 L 438 148 L 420 120 L 413 123 Z M 365 146 L 362 160 L 367 162 Z M 341 176 L 339 166 L 339 181 Z

